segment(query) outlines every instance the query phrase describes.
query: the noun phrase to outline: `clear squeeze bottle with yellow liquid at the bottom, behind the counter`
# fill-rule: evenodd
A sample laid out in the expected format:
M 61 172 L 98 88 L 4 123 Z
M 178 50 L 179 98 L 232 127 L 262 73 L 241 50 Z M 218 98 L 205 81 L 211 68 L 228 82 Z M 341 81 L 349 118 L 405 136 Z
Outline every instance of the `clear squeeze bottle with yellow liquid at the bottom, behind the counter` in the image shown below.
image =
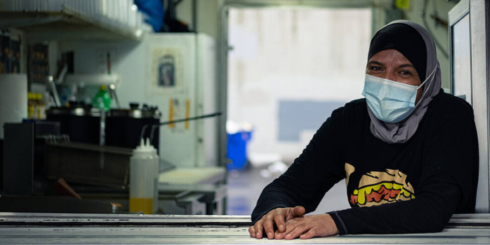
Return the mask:
M 129 166 L 129 212 L 153 214 L 158 209 L 159 160 L 146 139 L 133 150 Z

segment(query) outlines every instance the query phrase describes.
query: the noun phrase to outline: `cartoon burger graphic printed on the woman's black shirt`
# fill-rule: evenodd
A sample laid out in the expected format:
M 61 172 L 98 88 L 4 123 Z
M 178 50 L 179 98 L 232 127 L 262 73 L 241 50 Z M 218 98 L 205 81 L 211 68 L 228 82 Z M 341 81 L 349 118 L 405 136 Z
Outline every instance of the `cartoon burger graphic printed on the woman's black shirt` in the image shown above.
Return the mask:
M 351 172 L 350 167 L 346 164 L 347 177 Z M 359 187 L 350 194 L 349 202 L 355 206 L 369 207 L 415 199 L 414 194 L 413 186 L 407 182 L 407 175 L 398 170 L 386 169 L 384 172 L 368 172 L 363 175 Z

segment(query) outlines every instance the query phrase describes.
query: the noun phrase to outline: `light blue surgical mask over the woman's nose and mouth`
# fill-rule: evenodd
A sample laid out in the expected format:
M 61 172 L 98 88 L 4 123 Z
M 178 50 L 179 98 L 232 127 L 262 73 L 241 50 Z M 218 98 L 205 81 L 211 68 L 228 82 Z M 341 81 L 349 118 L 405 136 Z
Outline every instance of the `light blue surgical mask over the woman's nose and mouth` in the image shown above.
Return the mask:
M 417 90 L 429 77 L 420 86 L 414 86 L 366 74 L 362 95 L 377 119 L 389 123 L 401 122 L 414 111 Z

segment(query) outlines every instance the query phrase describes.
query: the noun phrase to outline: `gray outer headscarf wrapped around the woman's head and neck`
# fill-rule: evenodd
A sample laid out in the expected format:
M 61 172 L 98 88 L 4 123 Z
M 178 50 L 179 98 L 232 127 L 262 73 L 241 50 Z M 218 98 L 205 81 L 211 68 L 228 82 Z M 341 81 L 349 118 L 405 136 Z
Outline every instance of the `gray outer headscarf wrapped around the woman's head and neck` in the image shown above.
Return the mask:
M 369 127 L 371 133 L 376 138 L 386 143 L 407 142 L 417 131 L 419 123 L 422 121 L 422 118 L 427 112 L 427 107 L 429 106 L 430 101 L 432 100 L 432 98 L 434 98 L 434 96 L 439 93 L 441 88 L 441 72 L 439 61 L 437 61 L 435 44 L 429 32 L 421 25 L 408 20 L 392 21 L 380 30 L 384 29 L 386 26 L 396 23 L 406 24 L 413 27 L 424 39 L 427 49 L 427 68 L 425 78 L 428 79 L 428 81 L 424 85 L 424 92 L 422 93 L 422 97 L 417 103 L 415 110 L 412 112 L 412 114 L 410 114 L 405 120 L 401 122 L 388 123 L 380 121 L 376 118 L 376 116 L 374 116 L 369 107 L 367 107 L 369 118 L 371 119 Z

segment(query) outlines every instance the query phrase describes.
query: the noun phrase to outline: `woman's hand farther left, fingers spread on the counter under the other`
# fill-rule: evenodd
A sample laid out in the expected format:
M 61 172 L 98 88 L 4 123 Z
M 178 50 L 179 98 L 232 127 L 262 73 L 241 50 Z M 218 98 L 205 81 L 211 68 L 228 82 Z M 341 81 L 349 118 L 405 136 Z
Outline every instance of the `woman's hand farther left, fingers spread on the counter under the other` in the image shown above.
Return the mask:
M 274 239 L 274 224 L 276 224 L 278 232 L 283 233 L 286 232 L 285 222 L 304 214 L 305 208 L 302 206 L 296 206 L 294 208 L 276 208 L 262 216 L 262 218 L 255 222 L 253 226 L 250 226 L 250 228 L 248 228 L 248 233 L 250 233 L 250 237 L 252 238 L 261 239 L 263 237 L 263 231 L 265 230 L 267 238 Z

